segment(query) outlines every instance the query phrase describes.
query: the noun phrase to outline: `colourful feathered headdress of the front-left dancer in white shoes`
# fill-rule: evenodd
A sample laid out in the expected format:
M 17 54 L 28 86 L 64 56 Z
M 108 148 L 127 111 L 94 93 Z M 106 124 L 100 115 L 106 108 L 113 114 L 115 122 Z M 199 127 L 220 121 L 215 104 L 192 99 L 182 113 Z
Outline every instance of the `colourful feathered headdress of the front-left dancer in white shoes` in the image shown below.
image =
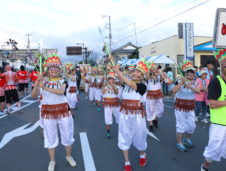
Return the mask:
M 52 53 L 45 57 L 43 68 L 44 70 L 47 70 L 49 67 L 62 67 L 60 56 L 58 54 Z

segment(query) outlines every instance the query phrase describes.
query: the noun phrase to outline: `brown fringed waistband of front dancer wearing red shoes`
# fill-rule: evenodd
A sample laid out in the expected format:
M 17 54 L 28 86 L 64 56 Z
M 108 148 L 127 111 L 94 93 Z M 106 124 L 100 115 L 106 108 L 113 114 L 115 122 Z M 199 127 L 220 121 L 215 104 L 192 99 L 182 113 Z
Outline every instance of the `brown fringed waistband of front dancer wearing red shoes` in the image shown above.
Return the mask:
M 144 107 L 140 100 L 123 99 L 120 105 L 120 112 L 123 112 L 124 114 L 141 114 L 142 117 L 145 115 Z

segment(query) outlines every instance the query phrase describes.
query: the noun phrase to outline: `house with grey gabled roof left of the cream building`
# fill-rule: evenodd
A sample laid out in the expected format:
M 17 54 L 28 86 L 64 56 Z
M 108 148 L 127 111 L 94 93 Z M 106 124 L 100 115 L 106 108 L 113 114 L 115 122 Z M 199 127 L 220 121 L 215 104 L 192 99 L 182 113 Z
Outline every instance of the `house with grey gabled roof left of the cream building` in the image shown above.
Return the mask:
M 112 50 L 112 55 L 114 59 L 117 61 L 119 59 L 127 58 L 129 55 L 132 55 L 132 53 L 137 50 L 138 47 L 133 45 L 131 42 Z

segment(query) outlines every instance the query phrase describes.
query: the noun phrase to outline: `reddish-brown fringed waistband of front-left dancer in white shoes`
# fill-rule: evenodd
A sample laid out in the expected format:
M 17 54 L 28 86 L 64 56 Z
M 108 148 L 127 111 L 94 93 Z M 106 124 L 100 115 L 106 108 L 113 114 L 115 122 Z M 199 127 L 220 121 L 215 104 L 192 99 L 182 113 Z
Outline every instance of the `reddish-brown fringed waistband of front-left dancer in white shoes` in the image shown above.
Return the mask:
M 46 105 L 41 107 L 41 116 L 44 119 L 60 119 L 70 116 L 68 103 Z

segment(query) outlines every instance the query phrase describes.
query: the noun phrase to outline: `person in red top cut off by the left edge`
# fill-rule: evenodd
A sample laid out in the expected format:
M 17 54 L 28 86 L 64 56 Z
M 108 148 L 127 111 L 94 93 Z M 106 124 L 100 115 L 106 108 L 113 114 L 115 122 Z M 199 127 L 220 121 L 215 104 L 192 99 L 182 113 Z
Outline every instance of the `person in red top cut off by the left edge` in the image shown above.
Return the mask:
M 0 67 L 0 74 L 3 73 L 3 68 Z M 5 85 L 6 80 L 4 76 L 0 76 L 0 115 L 4 114 L 4 108 L 5 108 Z

